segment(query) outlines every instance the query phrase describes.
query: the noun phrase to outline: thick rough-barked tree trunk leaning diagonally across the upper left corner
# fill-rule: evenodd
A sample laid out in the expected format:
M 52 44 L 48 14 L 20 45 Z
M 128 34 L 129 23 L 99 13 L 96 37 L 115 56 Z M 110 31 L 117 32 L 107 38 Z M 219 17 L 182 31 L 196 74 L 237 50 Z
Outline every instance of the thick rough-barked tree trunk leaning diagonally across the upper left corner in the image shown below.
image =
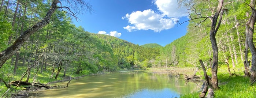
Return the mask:
M 16 53 L 21 48 L 21 46 L 24 44 L 25 41 L 27 41 L 30 35 L 34 34 L 34 32 L 42 29 L 42 27 L 49 24 L 53 12 L 58 8 L 57 3 L 60 3 L 60 1 L 53 0 L 51 8 L 45 15 L 44 19 L 32 26 L 30 29 L 24 31 L 23 34 L 21 34 L 21 36 L 16 39 L 14 44 L 12 44 L 10 47 L 0 53 L 0 68 L 3 66 L 5 61 L 7 61 L 12 55 L 14 55 L 14 53 Z

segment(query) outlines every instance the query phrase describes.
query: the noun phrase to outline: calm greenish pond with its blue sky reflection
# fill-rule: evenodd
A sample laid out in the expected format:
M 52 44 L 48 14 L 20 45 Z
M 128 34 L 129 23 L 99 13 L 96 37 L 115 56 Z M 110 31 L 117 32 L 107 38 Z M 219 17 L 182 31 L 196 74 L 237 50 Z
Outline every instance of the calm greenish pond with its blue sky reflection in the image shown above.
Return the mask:
M 37 92 L 36 98 L 179 98 L 200 90 L 201 82 L 186 82 L 175 75 L 146 71 L 112 72 L 89 75 L 60 86 Z

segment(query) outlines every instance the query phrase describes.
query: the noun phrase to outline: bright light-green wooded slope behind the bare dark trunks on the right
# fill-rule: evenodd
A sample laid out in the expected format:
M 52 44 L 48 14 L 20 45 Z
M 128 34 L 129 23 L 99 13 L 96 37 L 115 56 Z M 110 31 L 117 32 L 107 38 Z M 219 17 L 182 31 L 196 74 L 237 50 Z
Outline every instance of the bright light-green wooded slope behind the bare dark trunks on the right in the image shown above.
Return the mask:
M 246 38 L 245 20 L 249 18 L 246 16 L 248 14 L 246 12 L 249 10 L 245 9 L 247 6 L 240 2 L 232 2 L 225 6 L 229 11 L 224 13 L 219 31 L 216 34 L 221 65 L 243 66 Z M 197 7 L 204 7 L 204 5 L 197 5 Z M 210 15 L 210 13 L 205 14 Z M 196 13 L 191 13 L 191 15 L 196 16 Z M 170 64 L 178 66 L 200 65 L 198 60 L 202 59 L 209 65 L 209 59 L 212 58 L 212 46 L 209 40 L 211 20 L 203 19 L 191 20 L 186 35 L 164 47 L 162 56 L 168 57 Z M 248 54 L 249 60 L 251 59 L 250 55 Z

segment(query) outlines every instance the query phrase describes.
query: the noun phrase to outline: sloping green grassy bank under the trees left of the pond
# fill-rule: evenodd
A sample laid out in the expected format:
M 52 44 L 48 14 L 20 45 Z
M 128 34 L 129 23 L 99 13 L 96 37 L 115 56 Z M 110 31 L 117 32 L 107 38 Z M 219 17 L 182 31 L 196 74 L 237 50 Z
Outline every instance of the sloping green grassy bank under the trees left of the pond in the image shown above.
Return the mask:
M 39 67 L 38 67 L 39 68 Z M 25 74 L 27 70 L 27 66 L 24 65 L 24 66 L 18 66 L 17 70 L 16 70 L 16 73 L 14 74 L 13 73 L 13 66 L 8 66 L 8 65 L 4 65 L 2 68 L 0 68 L 0 78 L 3 79 L 5 82 L 11 82 L 11 81 L 15 81 L 15 80 L 21 80 L 21 77 L 22 75 Z M 29 76 L 29 82 L 32 83 L 33 80 L 34 80 L 34 77 L 35 77 L 35 82 L 39 82 L 39 83 L 42 83 L 42 84 L 47 84 L 47 83 L 50 83 L 50 82 L 56 82 L 56 81 L 59 81 L 59 80 L 67 80 L 69 79 L 69 77 L 78 77 L 78 76 L 83 76 L 83 75 L 88 75 L 89 73 L 87 74 L 75 74 L 73 69 L 68 69 L 67 70 L 67 73 L 66 73 L 66 77 L 63 76 L 64 73 L 62 73 L 62 71 L 60 72 L 59 76 L 57 79 L 54 79 L 55 78 L 55 75 L 56 75 L 56 71 L 55 70 L 55 73 L 53 74 L 53 77 L 51 78 L 51 73 L 52 73 L 52 68 L 47 66 L 46 69 L 42 69 L 42 72 L 41 72 L 41 68 L 38 69 L 37 71 L 37 68 L 32 68 L 31 71 L 30 71 L 30 76 Z M 37 74 L 36 74 L 37 72 Z M 26 81 L 27 79 L 27 75 L 25 75 L 25 77 L 22 79 L 22 81 Z M 2 97 L 2 95 L 4 95 L 6 92 L 6 94 L 3 96 L 3 98 L 10 98 L 12 96 L 12 94 L 22 94 L 22 93 L 29 93 L 30 91 L 24 91 L 25 87 L 28 87 L 28 86 L 19 86 L 19 87 L 14 87 L 14 86 L 11 86 L 11 88 L 8 90 L 8 88 L 5 86 L 5 84 L 3 83 L 2 80 L 0 80 L 0 97 Z M 32 89 L 33 88 L 33 89 Z M 42 88 L 42 89 L 38 89 L 37 87 L 30 87 L 31 90 L 42 90 L 42 89 L 45 89 L 45 88 Z M 8 90 L 8 91 L 7 91 Z M 22 92 L 22 93 L 21 93 Z

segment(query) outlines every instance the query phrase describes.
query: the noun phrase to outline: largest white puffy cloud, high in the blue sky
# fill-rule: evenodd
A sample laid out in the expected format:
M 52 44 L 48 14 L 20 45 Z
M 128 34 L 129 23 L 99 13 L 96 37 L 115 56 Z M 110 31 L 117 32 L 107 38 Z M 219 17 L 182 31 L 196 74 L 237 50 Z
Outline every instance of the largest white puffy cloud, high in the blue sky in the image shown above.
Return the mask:
M 176 0 L 155 0 L 154 4 L 161 14 L 149 9 L 144 11 L 135 11 L 126 14 L 122 19 L 127 19 L 130 25 L 123 27 L 131 31 L 153 30 L 160 32 L 171 29 L 177 23 L 178 18 L 187 15 L 185 9 L 178 9 Z

